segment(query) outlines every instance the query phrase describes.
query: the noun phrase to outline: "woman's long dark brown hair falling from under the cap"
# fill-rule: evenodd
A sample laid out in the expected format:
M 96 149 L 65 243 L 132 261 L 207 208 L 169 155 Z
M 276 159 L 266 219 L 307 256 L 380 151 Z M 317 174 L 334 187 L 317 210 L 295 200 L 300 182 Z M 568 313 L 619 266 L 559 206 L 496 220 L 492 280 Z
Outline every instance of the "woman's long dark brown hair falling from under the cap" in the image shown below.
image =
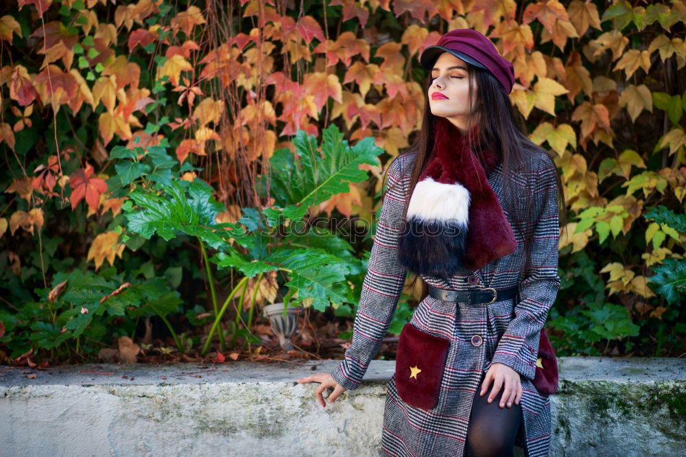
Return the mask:
M 472 150 L 477 156 L 482 159 L 480 150 L 482 145 L 488 145 L 488 148 L 497 154 L 502 162 L 503 173 L 503 200 L 504 209 L 510 213 L 517 214 L 513 211 L 515 207 L 521 208 L 525 205 L 526 214 L 530 214 L 532 196 L 528 191 L 521 191 L 516 185 L 513 185 L 510 178 L 513 173 L 525 173 L 530 169 L 530 159 L 536 156 L 537 152 L 543 151 L 551 158 L 550 163 L 554 166 L 552 161 L 552 154 L 547 150 L 541 148 L 539 145 L 533 143 L 527 136 L 526 126 L 523 116 L 514 108 L 510 101 L 510 96 L 506 93 L 504 87 L 500 82 L 493 77 L 488 71 L 467 65 L 467 72 L 469 74 L 469 113 L 472 113 L 478 119 L 477 139 L 471 142 Z M 431 73 L 427 76 L 425 88 L 429 88 L 433 78 Z M 474 82 L 477 87 L 474 87 Z M 472 97 L 473 92 L 476 91 L 476 97 Z M 475 106 L 471 106 L 471 100 L 475 99 Z M 410 178 L 410 185 L 407 189 L 407 199 L 405 201 L 405 209 L 403 215 L 407 215 L 407 207 L 410 202 L 410 196 L 414 191 L 419 176 L 421 176 L 427 163 L 431 159 L 431 154 L 434 152 L 434 120 L 436 116 L 431 113 L 429 107 L 429 98 L 425 97 L 424 115 L 421 124 L 421 130 L 414 139 L 414 143 L 402 154 L 394 159 L 398 160 L 401 156 L 407 154 L 416 154 L 414 161 L 412 161 L 412 175 Z M 386 169 L 388 172 L 388 168 Z M 558 192 L 558 209 L 559 226 L 567 226 L 567 213 L 565 202 L 565 195 L 562 188 L 562 181 L 560 175 L 555 174 Z M 385 175 L 384 175 L 385 178 Z M 388 191 L 388 189 L 386 190 Z M 383 194 L 385 196 L 385 192 Z M 382 197 L 383 197 L 382 196 Z M 521 210 L 520 210 L 521 211 Z M 510 223 L 519 227 L 523 233 L 523 262 L 528 259 L 530 242 L 532 238 L 532 231 L 534 224 L 530 220 L 510 220 Z M 527 274 L 528 263 L 523 263 L 523 273 Z M 416 280 L 419 278 L 413 275 L 414 280 L 410 287 L 414 287 Z M 422 294 L 426 296 L 427 288 L 424 286 Z M 423 298 L 423 297 L 422 297 Z

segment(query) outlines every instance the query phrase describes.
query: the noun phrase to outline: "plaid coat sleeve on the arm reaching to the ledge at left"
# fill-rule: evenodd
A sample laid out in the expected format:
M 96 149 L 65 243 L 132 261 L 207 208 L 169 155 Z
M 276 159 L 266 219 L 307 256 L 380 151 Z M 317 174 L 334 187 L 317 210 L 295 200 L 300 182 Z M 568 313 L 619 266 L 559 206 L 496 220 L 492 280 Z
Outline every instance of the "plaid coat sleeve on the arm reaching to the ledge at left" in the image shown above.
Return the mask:
M 405 204 L 407 183 L 394 159 L 388 167 L 388 191 L 381 203 L 381 214 L 372 244 L 367 273 L 362 282 L 353 338 L 344 360 L 331 376 L 347 390 L 359 387 L 369 362 L 381 347 L 405 285 L 405 268 L 398 261 L 397 244 Z

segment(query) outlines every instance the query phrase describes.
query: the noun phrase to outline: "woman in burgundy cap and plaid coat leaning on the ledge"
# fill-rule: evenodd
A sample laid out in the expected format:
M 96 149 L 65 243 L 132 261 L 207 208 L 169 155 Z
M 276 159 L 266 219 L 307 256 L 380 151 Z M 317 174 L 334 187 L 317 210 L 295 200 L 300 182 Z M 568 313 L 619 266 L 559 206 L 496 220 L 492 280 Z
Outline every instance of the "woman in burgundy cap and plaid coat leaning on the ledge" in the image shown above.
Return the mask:
M 507 456 L 517 444 L 528 457 L 545 456 L 550 403 L 532 380 L 541 328 L 560 284 L 559 226 L 565 225 L 564 215 L 559 215 L 560 204 L 565 207 L 560 177 L 545 150 L 526 136 L 508 95 L 514 84 L 512 64 L 488 38 L 474 30 L 453 30 L 425 49 L 420 61 L 429 70 L 422 128 L 412 148 L 388 167 L 390 187 L 383 198 L 351 346 L 333 373 L 317 373 L 298 383 L 320 382 L 316 395 L 322 407 L 327 388 L 334 388 L 329 401 L 358 388 L 386 335 L 405 273 L 423 269 L 428 273 L 421 277 L 430 294 L 418 304 L 410 324 L 449 340 L 438 402 L 429 409 L 410 406 L 399 395 L 393 375 L 383 417 L 383 455 Z M 469 225 L 466 239 L 446 245 L 456 246 L 454 257 L 462 261 L 438 259 L 440 255 L 434 259 L 434 253 L 424 250 L 410 259 L 408 246 L 419 244 L 407 238 L 412 225 L 408 220 L 430 212 L 422 204 L 439 194 L 436 185 L 440 176 L 445 177 L 433 170 L 436 161 L 446 151 L 456 156 L 459 148 L 466 151 L 463 158 L 479 160 L 473 165 L 453 163 L 453 172 L 462 176 L 455 184 L 487 174 L 482 193 L 474 186 L 483 187 L 485 178 L 465 184 L 472 198 L 469 218 L 465 213 L 458 222 Z M 436 182 L 429 182 L 431 176 Z M 434 186 L 428 192 L 427 184 Z M 425 194 L 418 196 L 420 189 Z M 482 195 L 493 195 L 495 203 L 480 215 L 472 213 L 487 207 L 488 198 L 479 200 Z M 455 205 L 453 198 L 443 202 L 445 208 Z M 504 231 L 490 233 L 488 224 L 499 215 L 506 218 Z M 480 230 L 475 230 L 480 223 Z M 438 239 L 442 242 L 445 239 Z M 434 250 L 436 243 L 425 246 Z M 490 248 L 493 255 L 484 257 Z M 439 263 L 440 268 L 432 268 Z M 513 297 L 517 287 L 519 295 Z M 460 291 L 462 298 L 435 298 L 452 291 Z

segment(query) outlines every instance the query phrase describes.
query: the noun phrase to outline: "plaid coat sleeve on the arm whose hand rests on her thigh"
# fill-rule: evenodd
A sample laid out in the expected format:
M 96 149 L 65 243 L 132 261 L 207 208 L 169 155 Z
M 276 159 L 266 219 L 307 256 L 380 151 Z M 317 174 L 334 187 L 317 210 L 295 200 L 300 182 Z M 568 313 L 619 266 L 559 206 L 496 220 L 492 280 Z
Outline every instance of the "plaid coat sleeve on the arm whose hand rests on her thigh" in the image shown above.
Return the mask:
M 532 217 L 536 226 L 530 244 L 528 275 L 520 284 L 514 317 L 499 340 L 491 361 L 491 364 L 505 364 L 532 380 L 536 374 L 541 329 L 560 288 L 556 173 L 552 159 L 548 156 L 541 158 L 532 185 Z

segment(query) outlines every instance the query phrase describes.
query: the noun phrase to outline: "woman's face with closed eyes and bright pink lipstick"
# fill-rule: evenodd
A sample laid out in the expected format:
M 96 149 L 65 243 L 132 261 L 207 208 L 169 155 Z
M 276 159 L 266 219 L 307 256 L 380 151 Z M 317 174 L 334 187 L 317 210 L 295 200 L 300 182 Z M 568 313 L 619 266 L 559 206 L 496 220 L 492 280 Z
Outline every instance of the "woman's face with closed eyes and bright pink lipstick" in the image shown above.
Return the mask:
M 449 52 L 441 54 L 434 68 L 431 69 L 429 84 L 429 107 L 434 116 L 445 117 L 460 130 L 471 127 L 471 115 L 469 113 L 469 74 L 467 63 L 453 56 Z M 474 93 L 472 106 L 475 105 L 476 81 L 473 81 Z

